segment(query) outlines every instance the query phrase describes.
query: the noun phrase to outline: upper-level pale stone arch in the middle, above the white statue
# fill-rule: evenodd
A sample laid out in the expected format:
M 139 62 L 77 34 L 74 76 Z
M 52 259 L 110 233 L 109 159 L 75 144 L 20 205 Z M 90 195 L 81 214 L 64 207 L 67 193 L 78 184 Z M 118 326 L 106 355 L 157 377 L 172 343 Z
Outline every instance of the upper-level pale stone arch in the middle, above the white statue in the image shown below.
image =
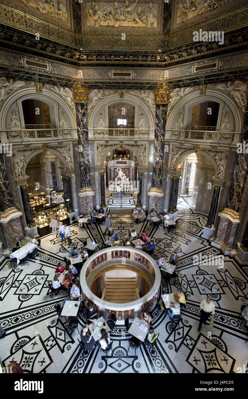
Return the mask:
M 100 100 L 93 108 L 91 111 L 89 118 L 88 118 L 88 128 L 89 129 L 94 129 L 94 119 L 96 118 L 96 114 L 99 112 L 100 108 L 102 106 L 108 107 L 109 105 L 116 104 L 116 103 L 127 103 L 127 104 L 132 104 L 136 108 L 140 105 L 146 112 L 146 116 L 148 117 L 149 121 L 149 129 L 154 130 L 155 129 L 155 115 L 153 114 L 152 110 L 148 107 L 148 105 L 139 99 L 137 96 L 125 93 L 124 98 L 120 98 L 119 93 L 114 93 L 109 96 L 104 97 L 102 100 Z M 106 108 L 105 108 L 106 110 Z

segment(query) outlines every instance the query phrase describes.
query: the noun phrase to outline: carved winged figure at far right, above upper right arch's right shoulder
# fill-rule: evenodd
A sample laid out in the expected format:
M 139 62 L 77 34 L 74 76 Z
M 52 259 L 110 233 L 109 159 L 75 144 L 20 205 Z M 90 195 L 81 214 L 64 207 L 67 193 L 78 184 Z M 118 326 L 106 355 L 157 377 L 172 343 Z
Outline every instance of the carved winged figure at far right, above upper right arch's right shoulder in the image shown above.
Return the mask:
M 212 85 L 211 87 L 215 87 L 216 89 L 220 89 L 227 93 L 232 97 L 241 111 L 245 112 L 247 98 L 246 98 L 246 85 L 239 80 L 236 80 L 233 85 L 229 81 L 227 83 L 218 83 L 216 85 Z

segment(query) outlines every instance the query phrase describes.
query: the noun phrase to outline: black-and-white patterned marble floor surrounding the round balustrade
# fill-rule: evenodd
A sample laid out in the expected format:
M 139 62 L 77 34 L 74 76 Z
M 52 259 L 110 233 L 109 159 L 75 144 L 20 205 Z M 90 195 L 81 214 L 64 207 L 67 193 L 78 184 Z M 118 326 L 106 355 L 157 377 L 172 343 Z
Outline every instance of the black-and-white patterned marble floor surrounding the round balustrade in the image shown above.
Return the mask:
M 131 209 L 110 207 L 112 227 L 122 237 L 132 231 Z M 149 222 L 135 225 L 137 232 L 145 229 L 155 240 L 154 258 L 169 257 L 172 251 L 179 255 L 178 280 L 166 285 L 162 292 L 174 292 L 181 286 L 187 293 L 182 321 L 173 330 L 169 317 L 154 312 L 155 332 L 159 332 L 154 348 L 141 346 L 128 351 L 129 334 L 124 326 L 116 326 L 110 338 L 112 352 L 106 356 L 99 346 L 83 358 L 79 349 L 79 334 L 67 330 L 65 318 L 58 320 L 55 304 L 61 296 L 48 293 L 57 263 L 70 248 L 60 244 L 60 237 L 47 235 L 41 239 L 41 250 L 36 262 L 29 262 L 13 272 L 10 264 L 0 265 L 0 324 L 6 336 L 0 340 L 0 356 L 4 365 L 16 360 L 27 373 L 236 373 L 237 367 L 248 362 L 247 333 L 240 317 L 240 305 L 247 303 L 248 267 L 224 257 L 224 269 L 215 266 L 193 265 L 193 255 L 220 255 L 201 238 L 206 216 L 182 207 L 179 211 L 180 228 L 165 234 L 161 227 L 155 230 Z M 104 225 L 94 225 L 80 231 L 71 226 L 72 246 L 104 238 Z M 216 307 L 212 330 L 199 324 L 199 303 L 209 294 Z M 80 329 L 85 318 L 79 316 Z

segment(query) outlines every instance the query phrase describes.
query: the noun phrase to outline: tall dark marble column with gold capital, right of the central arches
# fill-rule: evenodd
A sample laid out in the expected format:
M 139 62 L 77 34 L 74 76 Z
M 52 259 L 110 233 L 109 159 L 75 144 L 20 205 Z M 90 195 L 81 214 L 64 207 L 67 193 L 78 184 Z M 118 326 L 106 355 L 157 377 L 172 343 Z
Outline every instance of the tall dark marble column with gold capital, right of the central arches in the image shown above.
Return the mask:
M 163 176 L 163 155 L 164 155 L 164 134 L 167 118 L 169 87 L 165 84 L 163 89 L 156 89 L 156 109 L 155 109 L 155 132 L 154 132 L 154 154 L 152 167 L 152 185 L 148 192 L 149 210 L 155 207 L 157 213 L 163 211 L 161 197 L 162 176 Z

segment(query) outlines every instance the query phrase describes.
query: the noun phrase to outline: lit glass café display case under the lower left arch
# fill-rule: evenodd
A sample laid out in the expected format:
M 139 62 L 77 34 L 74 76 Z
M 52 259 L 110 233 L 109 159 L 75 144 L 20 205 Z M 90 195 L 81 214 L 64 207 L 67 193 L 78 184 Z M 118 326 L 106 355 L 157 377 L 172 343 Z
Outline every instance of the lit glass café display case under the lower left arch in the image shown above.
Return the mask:
M 37 209 L 35 212 L 35 222 L 37 224 L 37 230 L 39 235 L 45 235 L 50 232 L 50 222 L 56 217 L 58 222 L 63 222 L 63 224 L 70 224 L 70 219 L 67 217 L 67 210 L 64 203 L 49 205 L 45 209 Z

